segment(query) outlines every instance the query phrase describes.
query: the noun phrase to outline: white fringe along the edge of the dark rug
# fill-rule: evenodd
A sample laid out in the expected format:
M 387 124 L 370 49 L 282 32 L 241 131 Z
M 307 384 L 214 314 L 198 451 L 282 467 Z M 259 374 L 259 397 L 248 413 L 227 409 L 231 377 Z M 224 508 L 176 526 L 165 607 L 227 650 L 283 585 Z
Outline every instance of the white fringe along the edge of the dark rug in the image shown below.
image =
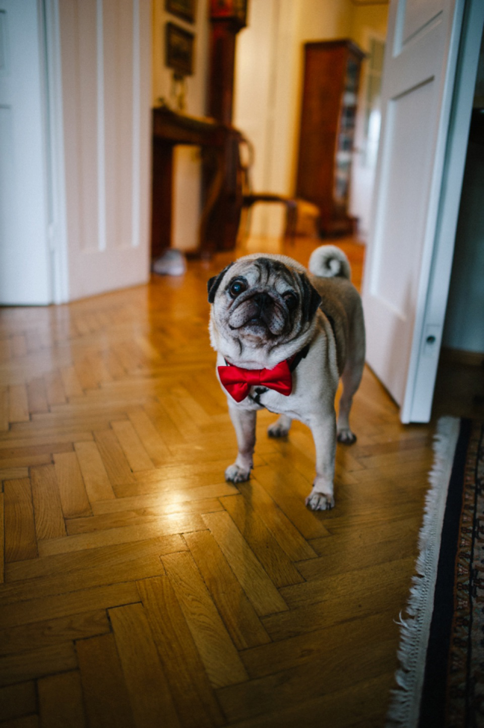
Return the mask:
M 386 728 L 415 728 L 418 724 L 440 537 L 459 426 L 460 420 L 455 417 L 441 417 L 437 422 L 434 464 L 429 473 L 430 487 L 425 496 L 424 519 L 418 534 L 416 576 L 412 579 L 405 609 L 408 618 L 404 620 L 400 613 L 397 622 L 400 625 L 400 646 L 397 652 L 400 668 L 395 674 L 398 688 L 392 691 Z

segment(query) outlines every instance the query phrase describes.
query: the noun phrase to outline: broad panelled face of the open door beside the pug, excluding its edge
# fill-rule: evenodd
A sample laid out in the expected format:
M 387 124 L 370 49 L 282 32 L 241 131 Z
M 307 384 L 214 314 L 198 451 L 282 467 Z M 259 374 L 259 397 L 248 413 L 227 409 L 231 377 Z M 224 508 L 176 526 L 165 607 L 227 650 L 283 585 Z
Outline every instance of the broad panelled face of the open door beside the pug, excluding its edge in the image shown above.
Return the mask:
M 462 0 L 395 0 L 389 12 L 363 301 L 368 363 L 402 405 L 402 422 L 424 325 L 463 8 Z M 433 384 L 430 403 L 432 392 Z

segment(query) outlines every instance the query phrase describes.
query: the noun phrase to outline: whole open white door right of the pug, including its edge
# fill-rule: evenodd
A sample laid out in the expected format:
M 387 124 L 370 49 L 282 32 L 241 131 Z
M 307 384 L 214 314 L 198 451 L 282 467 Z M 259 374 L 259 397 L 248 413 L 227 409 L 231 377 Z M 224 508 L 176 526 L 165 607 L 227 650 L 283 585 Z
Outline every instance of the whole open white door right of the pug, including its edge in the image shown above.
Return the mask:
M 468 3 L 464 22 L 472 85 L 483 7 Z M 363 302 L 368 363 L 402 422 L 427 422 L 432 406 L 472 106 L 464 84 L 449 136 L 463 16 L 464 0 L 394 0 L 389 12 Z

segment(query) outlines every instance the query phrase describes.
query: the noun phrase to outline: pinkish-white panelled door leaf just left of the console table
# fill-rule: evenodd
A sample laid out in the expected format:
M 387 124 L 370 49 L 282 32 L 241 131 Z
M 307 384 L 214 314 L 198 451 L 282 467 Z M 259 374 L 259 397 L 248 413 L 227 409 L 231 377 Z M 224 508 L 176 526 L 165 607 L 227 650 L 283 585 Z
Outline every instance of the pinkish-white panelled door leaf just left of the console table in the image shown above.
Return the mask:
M 68 298 L 149 276 L 149 0 L 57 0 Z

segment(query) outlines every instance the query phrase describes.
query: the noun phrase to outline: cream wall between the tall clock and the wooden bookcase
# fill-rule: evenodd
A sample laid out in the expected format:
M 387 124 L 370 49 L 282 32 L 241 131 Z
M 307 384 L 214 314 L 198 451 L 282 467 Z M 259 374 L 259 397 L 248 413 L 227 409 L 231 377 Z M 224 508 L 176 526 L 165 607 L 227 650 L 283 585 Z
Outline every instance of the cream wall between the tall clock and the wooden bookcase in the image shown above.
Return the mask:
M 293 184 L 293 130 L 297 121 L 297 4 L 254 0 L 248 27 L 237 39 L 234 126 L 253 144 L 255 191 L 287 194 Z M 256 205 L 252 232 L 277 235 L 280 206 Z

